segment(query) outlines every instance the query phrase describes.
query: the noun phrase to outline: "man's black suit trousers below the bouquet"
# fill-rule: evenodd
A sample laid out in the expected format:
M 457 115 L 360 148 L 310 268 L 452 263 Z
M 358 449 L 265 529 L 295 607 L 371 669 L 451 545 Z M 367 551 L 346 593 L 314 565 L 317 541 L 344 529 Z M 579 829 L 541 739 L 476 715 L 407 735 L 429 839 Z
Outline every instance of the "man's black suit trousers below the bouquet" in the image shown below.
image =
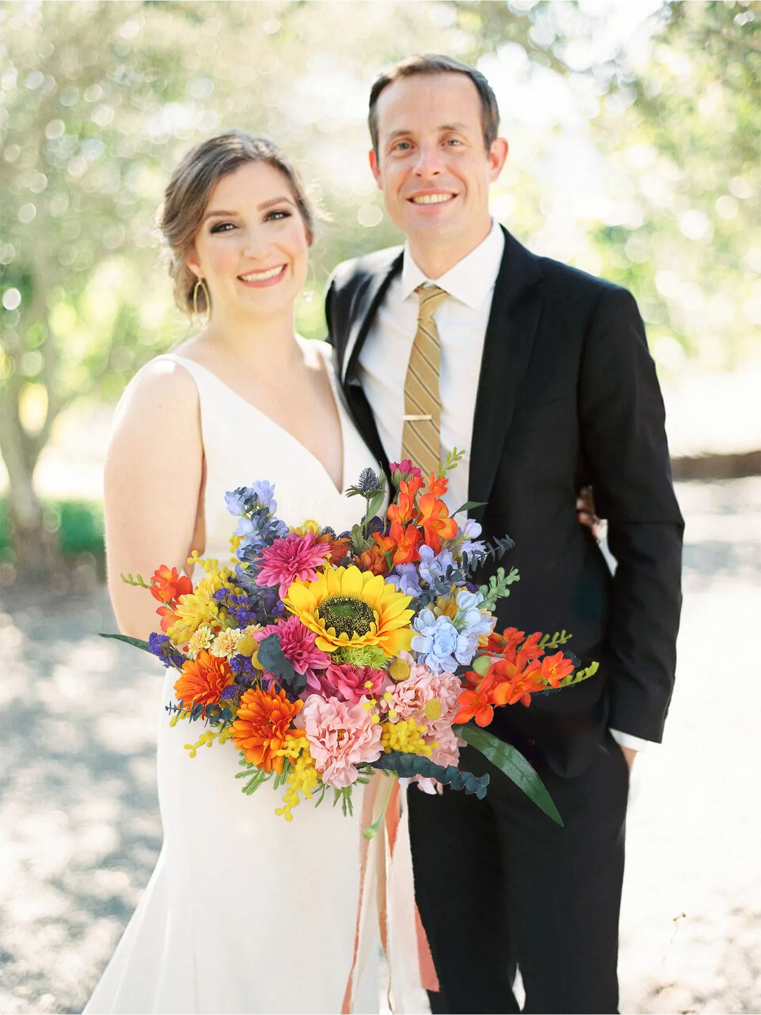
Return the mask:
M 573 779 L 532 763 L 564 827 L 551 821 L 484 756 L 461 767 L 491 780 L 484 800 L 410 787 L 415 894 L 441 991 L 434 1013 L 618 1010 L 618 917 L 624 870 L 626 759 L 605 735 Z

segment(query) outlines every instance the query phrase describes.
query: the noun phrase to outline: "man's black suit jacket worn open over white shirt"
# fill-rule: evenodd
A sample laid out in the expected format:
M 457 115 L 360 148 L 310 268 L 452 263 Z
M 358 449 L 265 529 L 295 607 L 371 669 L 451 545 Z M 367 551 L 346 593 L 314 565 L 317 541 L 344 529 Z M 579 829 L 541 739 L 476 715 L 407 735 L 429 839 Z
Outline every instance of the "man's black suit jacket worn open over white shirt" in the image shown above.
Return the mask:
M 605 725 L 660 741 L 674 684 L 683 521 L 671 480 L 664 405 L 631 294 L 536 257 L 504 230 L 481 362 L 471 448 L 471 512 L 515 548 L 521 581 L 498 629 L 572 632 L 601 663 L 591 680 L 496 709 L 490 730 L 558 771 L 583 770 Z M 343 391 L 386 461 L 356 364 L 401 248 L 339 265 L 328 284 L 330 339 Z M 609 522 L 611 576 L 576 492 L 591 482 Z M 493 570 L 495 564 L 486 570 Z

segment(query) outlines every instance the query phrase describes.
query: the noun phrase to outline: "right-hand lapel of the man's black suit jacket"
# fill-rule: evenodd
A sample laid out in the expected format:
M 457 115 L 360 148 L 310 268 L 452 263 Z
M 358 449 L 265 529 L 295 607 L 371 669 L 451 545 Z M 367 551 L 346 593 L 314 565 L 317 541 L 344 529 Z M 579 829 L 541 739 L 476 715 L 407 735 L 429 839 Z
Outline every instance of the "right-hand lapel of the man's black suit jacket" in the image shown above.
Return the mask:
M 504 254 L 486 327 L 469 475 L 469 498 L 489 499 L 517 392 L 526 376 L 542 303 L 537 258 L 504 230 Z M 484 509 L 469 515 L 481 521 Z

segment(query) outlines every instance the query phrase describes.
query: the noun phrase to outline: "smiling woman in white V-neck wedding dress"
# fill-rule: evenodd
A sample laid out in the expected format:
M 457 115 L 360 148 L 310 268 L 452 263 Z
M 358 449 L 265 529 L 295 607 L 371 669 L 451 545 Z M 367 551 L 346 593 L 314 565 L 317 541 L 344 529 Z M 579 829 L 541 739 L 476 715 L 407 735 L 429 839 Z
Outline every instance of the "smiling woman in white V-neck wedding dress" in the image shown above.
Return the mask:
M 346 414 L 331 349 L 293 332 L 313 213 L 271 142 L 229 132 L 198 145 L 166 189 L 161 229 L 177 300 L 200 333 L 133 379 L 106 467 L 109 590 L 123 632 L 157 627 L 155 600 L 120 571 L 183 568 L 194 550 L 229 558 L 224 493 L 275 484 L 277 515 L 338 531 L 359 521 L 342 495 L 378 469 Z M 163 700 L 174 699 L 167 670 Z M 353 977 L 361 800 L 286 822 L 267 790 L 234 779 L 237 753 L 191 760 L 185 724 L 162 714 L 158 797 L 163 847 L 142 900 L 85 1012 L 377 1011 L 370 955 Z M 410 905 L 412 906 L 412 899 Z

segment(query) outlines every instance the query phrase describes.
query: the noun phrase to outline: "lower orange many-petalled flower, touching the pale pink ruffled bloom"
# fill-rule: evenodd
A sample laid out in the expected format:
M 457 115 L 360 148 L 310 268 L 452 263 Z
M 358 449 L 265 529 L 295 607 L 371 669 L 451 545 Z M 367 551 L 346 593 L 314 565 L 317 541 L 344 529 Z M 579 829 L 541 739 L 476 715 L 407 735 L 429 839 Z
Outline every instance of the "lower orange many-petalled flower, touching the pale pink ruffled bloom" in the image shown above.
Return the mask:
M 303 701 L 289 701 L 282 688 L 263 691 L 252 687 L 240 698 L 232 724 L 232 742 L 251 764 L 268 772 L 274 768 L 281 775 L 283 758 L 277 752 L 290 736 L 290 724 L 302 707 Z

